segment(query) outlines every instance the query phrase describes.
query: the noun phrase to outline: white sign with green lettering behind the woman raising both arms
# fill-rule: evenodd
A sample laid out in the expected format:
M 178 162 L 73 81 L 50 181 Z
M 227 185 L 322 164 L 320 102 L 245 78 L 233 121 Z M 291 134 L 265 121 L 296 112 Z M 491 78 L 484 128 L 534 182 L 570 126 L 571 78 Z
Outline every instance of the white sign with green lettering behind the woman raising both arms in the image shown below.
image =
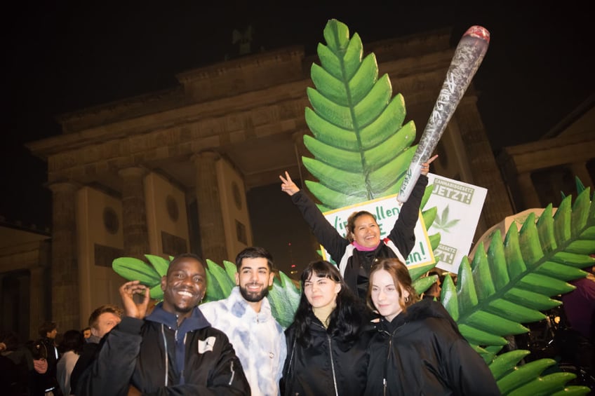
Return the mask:
M 375 200 L 368 200 L 364 203 L 356 205 L 350 205 L 341 207 L 339 209 L 331 210 L 330 212 L 324 212 L 323 215 L 326 217 L 328 222 L 335 227 L 335 229 L 345 238 L 347 235 L 347 218 L 353 212 L 359 212 L 360 210 L 366 210 L 371 214 L 374 214 L 376 221 L 380 226 L 380 239 L 387 238 L 390 231 L 394 226 L 394 221 L 399 217 L 401 206 L 403 204 L 396 200 L 396 195 L 387 196 L 385 198 L 378 198 Z M 415 268 L 417 266 L 424 266 L 427 264 L 434 263 L 434 252 L 432 247 L 429 245 L 429 238 L 424 226 L 424 220 L 420 213 L 420 220 L 415 225 L 415 247 L 407 257 L 407 266 L 409 268 Z M 322 257 L 328 260 L 330 257 L 328 252 L 321 246 Z M 336 263 L 337 265 L 339 263 Z

